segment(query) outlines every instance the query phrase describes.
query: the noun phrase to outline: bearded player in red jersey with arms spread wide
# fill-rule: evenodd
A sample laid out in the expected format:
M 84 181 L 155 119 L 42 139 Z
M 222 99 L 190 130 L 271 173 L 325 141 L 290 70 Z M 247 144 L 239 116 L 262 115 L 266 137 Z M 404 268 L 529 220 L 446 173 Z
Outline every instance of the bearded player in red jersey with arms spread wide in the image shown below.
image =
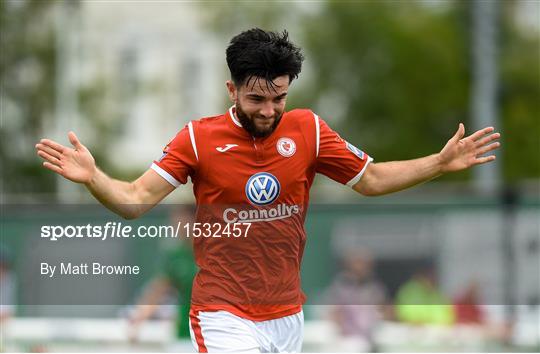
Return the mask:
M 304 219 L 316 173 L 373 196 L 396 192 L 493 161 L 493 128 L 464 137 L 464 127 L 437 154 L 371 163 L 308 109 L 285 111 L 289 85 L 303 56 L 287 32 L 251 29 L 226 52 L 233 106 L 225 114 L 191 121 L 163 155 L 133 182 L 100 171 L 88 149 L 43 139 L 44 167 L 84 183 L 107 208 L 133 219 L 176 187 L 193 181 L 201 229 L 192 230 L 199 267 L 190 323 L 200 352 L 297 352 L 303 332 L 300 264 Z M 217 237 L 219 225 L 222 237 Z M 235 230 L 235 231 L 231 231 Z M 249 230 L 249 233 L 248 233 Z M 227 236 L 239 231 L 245 237 Z

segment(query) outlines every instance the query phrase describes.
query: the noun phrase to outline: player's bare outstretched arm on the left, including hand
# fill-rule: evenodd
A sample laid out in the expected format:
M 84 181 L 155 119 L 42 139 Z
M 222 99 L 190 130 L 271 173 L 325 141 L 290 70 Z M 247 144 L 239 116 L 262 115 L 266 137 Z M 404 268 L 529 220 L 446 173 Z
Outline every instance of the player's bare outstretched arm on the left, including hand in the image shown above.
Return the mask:
M 110 178 L 97 168 L 90 151 L 68 134 L 73 148 L 49 139 L 37 145 L 37 154 L 45 160 L 43 166 L 64 178 L 82 183 L 92 195 L 107 208 L 126 219 L 134 219 L 151 209 L 174 187 L 153 170 L 146 171 L 133 182 Z

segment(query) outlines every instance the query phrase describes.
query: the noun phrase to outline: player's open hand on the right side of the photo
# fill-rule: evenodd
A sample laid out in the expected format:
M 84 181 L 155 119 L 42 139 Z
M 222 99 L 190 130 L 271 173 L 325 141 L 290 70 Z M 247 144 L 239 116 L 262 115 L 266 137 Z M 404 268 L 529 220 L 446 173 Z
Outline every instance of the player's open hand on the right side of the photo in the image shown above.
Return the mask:
M 495 155 L 483 156 L 501 145 L 499 142 L 493 142 L 501 136 L 493 131 L 493 127 L 487 127 L 463 138 L 465 127 L 459 123 L 458 131 L 439 153 L 442 172 L 461 171 L 495 160 Z

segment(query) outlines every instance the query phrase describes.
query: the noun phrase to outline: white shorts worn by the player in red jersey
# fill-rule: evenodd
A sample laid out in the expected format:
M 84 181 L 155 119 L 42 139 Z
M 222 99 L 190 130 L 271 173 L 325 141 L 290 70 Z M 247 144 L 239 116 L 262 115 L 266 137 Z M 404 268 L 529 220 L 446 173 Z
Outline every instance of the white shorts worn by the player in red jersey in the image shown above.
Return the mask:
M 251 321 L 227 311 L 190 316 L 195 350 L 235 353 L 298 353 L 304 336 L 304 312 L 268 321 Z

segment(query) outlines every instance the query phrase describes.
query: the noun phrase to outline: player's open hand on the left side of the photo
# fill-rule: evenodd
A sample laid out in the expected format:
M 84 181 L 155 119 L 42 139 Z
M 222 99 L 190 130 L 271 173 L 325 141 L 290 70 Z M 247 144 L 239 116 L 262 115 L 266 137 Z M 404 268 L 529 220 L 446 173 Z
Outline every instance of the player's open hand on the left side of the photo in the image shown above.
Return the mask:
M 66 147 L 49 139 L 36 144 L 37 154 L 45 162 L 43 167 L 77 183 L 89 183 L 96 172 L 94 157 L 81 144 L 73 132 L 68 134 L 74 148 Z

